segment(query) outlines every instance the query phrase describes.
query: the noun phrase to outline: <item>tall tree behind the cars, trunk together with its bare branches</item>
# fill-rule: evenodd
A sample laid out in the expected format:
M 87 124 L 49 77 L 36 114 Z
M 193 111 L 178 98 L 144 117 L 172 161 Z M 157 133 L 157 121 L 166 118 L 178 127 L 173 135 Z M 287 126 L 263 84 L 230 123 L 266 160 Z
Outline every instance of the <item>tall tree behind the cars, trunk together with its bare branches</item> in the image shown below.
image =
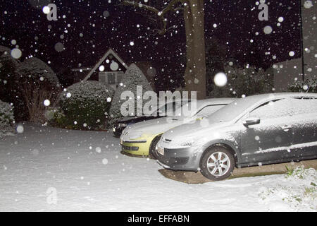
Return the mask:
M 168 30 L 168 13 L 183 11 L 186 32 L 187 64 L 185 86 L 187 91 L 197 91 L 197 98 L 206 97 L 206 59 L 204 37 L 204 0 L 170 0 L 161 10 L 141 1 L 123 0 L 123 6 L 133 6 L 149 11 L 159 18 L 156 33 L 165 34 Z

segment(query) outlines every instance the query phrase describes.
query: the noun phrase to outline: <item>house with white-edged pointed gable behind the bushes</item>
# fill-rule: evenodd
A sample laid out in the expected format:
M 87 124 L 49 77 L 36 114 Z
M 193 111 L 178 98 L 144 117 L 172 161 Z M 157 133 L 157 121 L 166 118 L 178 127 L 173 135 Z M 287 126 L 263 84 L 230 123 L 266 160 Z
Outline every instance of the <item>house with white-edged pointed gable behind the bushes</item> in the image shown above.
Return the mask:
M 130 64 L 136 64 L 144 73 L 152 88 L 154 86 L 154 76 L 156 71 L 148 61 L 137 61 L 126 63 L 121 59 L 113 49 L 108 49 L 106 54 L 97 62 L 94 67 L 83 67 L 80 69 L 73 69 L 73 73 L 79 81 L 94 80 L 106 83 L 116 90 L 118 85 L 124 80 L 125 71 Z M 83 76 L 85 75 L 85 77 Z

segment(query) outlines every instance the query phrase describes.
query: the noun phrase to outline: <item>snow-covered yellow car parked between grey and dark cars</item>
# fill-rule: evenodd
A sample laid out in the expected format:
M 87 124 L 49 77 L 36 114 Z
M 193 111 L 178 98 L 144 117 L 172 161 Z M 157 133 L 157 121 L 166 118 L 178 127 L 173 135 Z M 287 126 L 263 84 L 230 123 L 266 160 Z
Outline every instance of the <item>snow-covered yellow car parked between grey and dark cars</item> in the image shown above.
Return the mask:
M 152 155 L 156 158 L 156 143 L 159 142 L 164 132 L 176 126 L 190 123 L 191 121 L 213 114 L 213 112 L 216 112 L 234 100 L 235 98 L 197 100 L 197 102 L 195 102 L 196 107 L 191 107 L 194 106 L 193 102 L 187 104 L 191 105 L 188 107 L 190 110 L 187 112 L 187 117 L 163 117 L 132 124 L 126 127 L 120 136 L 122 150 L 132 155 Z M 178 109 L 176 109 L 175 112 L 178 112 Z

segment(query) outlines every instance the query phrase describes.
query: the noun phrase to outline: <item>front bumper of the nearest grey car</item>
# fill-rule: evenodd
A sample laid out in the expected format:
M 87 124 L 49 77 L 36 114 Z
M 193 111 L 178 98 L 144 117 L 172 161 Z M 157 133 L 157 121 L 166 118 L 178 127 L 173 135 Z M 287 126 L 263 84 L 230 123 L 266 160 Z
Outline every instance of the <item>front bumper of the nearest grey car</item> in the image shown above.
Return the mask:
M 164 148 L 164 153 L 156 152 L 157 162 L 166 169 L 199 171 L 201 153 L 197 148 Z

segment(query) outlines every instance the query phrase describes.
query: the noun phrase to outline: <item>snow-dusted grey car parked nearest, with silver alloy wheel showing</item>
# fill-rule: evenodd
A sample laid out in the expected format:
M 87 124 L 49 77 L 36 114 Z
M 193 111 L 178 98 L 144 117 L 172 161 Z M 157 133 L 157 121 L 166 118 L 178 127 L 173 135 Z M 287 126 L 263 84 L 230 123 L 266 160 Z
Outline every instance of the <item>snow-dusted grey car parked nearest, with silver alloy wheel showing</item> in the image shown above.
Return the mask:
M 156 145 L 173 170 L 225 179 L 234 167 L 317 158 L 317 94 L 273 93 L 236 100 L 195 124 L 170 129 Z

